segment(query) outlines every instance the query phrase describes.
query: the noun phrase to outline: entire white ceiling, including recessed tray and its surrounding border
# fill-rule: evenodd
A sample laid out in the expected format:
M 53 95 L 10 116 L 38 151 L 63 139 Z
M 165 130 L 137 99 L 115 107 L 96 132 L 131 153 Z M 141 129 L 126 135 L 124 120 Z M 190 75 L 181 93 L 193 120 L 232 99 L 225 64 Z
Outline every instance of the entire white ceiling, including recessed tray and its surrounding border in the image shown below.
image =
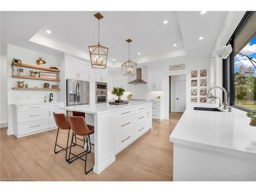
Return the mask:
M 35 34 L 63 42 L 88 54 L 97 44 L 97 12 L 1 12 L 1 53 L 12 44 L 55 55 L 58 50 L 30 42 Z M 126 60 L 131 38 L 131 58 L 185 48 L 190 56 L 208 57 L 226 12 L 101 12 L 100 42 L 109 47 L 109 60 Z M 163 24 L 168 20 L 167 24 Z M 47 34 L 46 30 L 51 30 Z M 198 38 L 203 36 L 203 40 Z M 177 44 L 176 47 L 173 44 Z M 141 55 L 138 55 L 138 52 Z

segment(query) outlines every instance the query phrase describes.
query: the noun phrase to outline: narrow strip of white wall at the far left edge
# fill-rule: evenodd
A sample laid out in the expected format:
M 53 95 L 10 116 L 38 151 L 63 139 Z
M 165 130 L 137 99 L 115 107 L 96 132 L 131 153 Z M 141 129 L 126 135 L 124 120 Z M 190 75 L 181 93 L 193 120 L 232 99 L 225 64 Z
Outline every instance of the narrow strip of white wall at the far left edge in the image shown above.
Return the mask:
M 0 127 L 7 126 L 8 114 L 7 112 L 7 56 L 1 54 L 1 95 L 0 95 Z

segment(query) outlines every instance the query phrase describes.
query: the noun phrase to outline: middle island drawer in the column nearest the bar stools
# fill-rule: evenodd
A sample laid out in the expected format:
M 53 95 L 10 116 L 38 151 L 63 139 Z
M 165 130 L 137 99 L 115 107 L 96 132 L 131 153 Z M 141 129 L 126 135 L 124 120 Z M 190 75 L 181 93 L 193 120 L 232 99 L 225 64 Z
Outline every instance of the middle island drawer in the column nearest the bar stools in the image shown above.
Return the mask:
M 134 126 L 134 116 L 127 116 L 114 121 L 114 135 L 118 136 L 119 134 L 125 132 L 127 129 L 130 129 Z

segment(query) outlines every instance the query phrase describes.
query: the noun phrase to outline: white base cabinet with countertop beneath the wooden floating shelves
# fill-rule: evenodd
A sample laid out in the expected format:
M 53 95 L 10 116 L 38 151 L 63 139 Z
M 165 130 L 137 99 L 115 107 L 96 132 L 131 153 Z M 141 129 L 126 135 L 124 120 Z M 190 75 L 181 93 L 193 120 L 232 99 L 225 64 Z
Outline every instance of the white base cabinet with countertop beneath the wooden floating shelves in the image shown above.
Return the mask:
M 65 113 L 58 109 L 64 102 L 13 104 L 13 131 L 17 138 L 56 129 L 53 112 Z

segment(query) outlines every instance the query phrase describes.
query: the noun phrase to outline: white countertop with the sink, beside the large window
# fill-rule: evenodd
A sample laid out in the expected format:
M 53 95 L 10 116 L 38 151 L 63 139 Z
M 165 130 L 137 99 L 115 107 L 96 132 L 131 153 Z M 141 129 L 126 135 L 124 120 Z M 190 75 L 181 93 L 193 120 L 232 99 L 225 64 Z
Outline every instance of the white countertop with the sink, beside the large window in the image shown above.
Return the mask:
M 256 160 L 256 127 L 250 126 L 246 112 L 196 111 L 194 106 L 216 106 L 210 103 L 190 104 L 169 141 L 229 155 Z

